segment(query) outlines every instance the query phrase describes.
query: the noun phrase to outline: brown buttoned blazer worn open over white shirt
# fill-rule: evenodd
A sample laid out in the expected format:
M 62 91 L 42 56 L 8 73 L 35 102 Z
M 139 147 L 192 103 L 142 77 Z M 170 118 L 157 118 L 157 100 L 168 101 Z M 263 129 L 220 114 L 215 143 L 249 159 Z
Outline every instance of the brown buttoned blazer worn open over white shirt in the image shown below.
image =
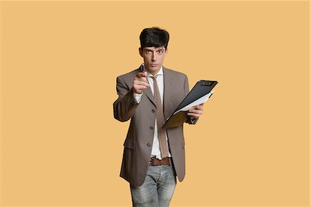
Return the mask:
M 131 119 L 124 141 L 124 153 L 120 177 L 132 186 L 141 186 L 146 178 L 156 122 L 156 103 L 151 89 L 144 89 L 138 104 L 133 98 L 133 79 L 140 69 L 117 77 L 119 98 L 113 103 L 113 114 L 122 122 Z M 163 111 L 165 119 L 178 107 L 189 92 L 187 75 L 165 69 Z M 167 129 L 169 149 L 179 181 L 185 177 L 185 139 L 183 127 Z

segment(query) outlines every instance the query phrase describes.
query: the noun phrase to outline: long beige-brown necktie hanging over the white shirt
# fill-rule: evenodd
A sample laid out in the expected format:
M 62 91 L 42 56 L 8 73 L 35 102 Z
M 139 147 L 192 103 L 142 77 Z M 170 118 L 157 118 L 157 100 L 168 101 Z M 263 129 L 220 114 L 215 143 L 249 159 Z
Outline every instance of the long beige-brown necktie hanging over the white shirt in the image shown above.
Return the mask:
M 158 125 L 158 138 L 160 143 L 160 151 L 162 159 L 169 156 L 169 147 L 167 146 L 167 138 L 165 136 L 165 129 L 162 129 L 162 126 L 164 125 L 164 114 L 162 109 L 162 101 L 160 96 L 160 91 L 158 87 L 157 82 L 158 75 L 151 76 L 153 79 L 153 96 L 156 99 L 156 118 L 157 118 L 157 125 Z

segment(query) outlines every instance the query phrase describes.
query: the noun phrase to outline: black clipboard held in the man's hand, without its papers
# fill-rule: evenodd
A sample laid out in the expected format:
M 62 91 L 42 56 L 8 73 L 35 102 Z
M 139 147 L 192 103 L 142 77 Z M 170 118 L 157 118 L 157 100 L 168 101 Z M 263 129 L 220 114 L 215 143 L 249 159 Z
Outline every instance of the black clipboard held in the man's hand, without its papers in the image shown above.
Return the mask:
M 207 93 L 211 92 L 211 89 L 213 89 L 218 82 L 216 80 L 199 80 L 196 82 L 194 87 L 191 89 L 191 91 L 187 94 L 187 96 L 180 102 L 180 105 L 178 105 L 177 109 L 169 116 L 167 119 L 167 122 L 162 126 L 162 128 L 173 128 L 173 127 L 179 127 L 185 121 L 187 121 L 187 111 L 178 111 L 182 109 L 183 107 L 186 107 L 191 102 L 194 102 L 195 100 L 198 100 L 199 98 L 207 95 Z M 212 94 L 211 94 L 212 95 Z M 176 111 L 178 111 L 176 113 Z M 176 114 L 175 114 L 176 113 Z

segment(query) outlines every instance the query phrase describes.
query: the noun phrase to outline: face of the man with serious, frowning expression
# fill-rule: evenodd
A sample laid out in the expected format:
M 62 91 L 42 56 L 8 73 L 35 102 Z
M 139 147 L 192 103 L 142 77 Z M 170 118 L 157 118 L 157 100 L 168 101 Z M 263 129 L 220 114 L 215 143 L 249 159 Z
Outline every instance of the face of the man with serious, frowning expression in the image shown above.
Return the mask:
M 167 55 L 167 50 L 164 46 L 158 48 L 144 47 L 140 48 L 140 56 L 144 58 L 144 67 L 152 75 L 156 75 L 162 66 L 164 57 Z

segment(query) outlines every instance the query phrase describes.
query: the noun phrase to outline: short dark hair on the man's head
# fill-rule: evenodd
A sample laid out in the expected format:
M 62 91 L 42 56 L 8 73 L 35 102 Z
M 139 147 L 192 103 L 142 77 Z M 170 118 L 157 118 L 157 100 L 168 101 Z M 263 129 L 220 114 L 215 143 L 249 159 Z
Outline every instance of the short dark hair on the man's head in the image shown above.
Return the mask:
M 158 27 L 144 28 L 142 33 L 140 33 L 140 48 L 145 46 L 154 46 L 158 48 L 164 46 L 167 50 L 167 45 L 169 44 L 169 33 L 167 30 L 162 30 Z

